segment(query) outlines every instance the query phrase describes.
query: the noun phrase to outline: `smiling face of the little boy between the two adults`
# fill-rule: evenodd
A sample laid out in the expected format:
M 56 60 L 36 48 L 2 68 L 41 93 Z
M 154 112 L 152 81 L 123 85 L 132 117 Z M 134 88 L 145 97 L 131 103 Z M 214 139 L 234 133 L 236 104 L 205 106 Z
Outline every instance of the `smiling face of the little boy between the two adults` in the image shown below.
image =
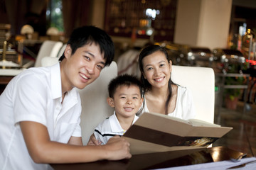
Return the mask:
M 118 117 L 130 118 L 139 111 L 142 105 L 142 97 L 138 86 L 119 86 L 117 87 L 114 98 L 107 98 L 107 102 L 114 107 Z

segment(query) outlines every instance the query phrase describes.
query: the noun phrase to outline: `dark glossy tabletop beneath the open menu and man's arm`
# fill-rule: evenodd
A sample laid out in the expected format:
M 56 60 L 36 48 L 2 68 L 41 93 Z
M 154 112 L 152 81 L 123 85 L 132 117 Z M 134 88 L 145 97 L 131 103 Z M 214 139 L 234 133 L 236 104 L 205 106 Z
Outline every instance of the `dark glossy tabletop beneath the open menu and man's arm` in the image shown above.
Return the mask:
M 220 162 L 238 158 L 242 152 L 228 147 L 211 147 L 203 149 L 188 149 L 171 152 L 133 155 L 131 159 L 120 161 L 98 161 L 80 164 L 51 164 L 53 169 L 161 169 L 166 167 Z M 247 157 L 251 157 L 247 155 Z

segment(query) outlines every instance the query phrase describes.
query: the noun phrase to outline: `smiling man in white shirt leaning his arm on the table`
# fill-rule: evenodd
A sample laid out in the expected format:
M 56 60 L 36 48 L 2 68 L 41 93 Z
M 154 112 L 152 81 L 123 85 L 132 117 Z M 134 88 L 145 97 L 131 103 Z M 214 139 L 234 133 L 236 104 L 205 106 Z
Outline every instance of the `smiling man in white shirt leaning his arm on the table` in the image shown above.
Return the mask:
M 73 31 L 60 63 L 12 79 L 0 96 L 0 169 L 130 158 L 129 143 L 121 137 L 105 146 L 82 146 L 76 88 L 95 81 L 113 56 L 110 36 L 85 26 Z

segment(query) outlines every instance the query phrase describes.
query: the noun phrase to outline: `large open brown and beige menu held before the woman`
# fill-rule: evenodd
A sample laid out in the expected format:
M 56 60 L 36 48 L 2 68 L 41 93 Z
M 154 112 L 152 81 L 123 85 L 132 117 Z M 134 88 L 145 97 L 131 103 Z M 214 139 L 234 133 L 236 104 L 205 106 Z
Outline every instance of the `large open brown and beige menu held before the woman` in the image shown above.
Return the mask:
M 233 128 L 203 120 L 182 120 L 159 113 L 143 113 L 124 133 L 131 154 L 204 148 Z

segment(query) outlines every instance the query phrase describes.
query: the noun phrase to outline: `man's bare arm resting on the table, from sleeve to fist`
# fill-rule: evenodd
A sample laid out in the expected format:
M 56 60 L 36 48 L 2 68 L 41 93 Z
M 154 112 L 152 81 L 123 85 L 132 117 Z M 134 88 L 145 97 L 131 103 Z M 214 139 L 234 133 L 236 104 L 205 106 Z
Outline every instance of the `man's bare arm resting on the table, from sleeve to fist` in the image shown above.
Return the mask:
M 129 142 L 119 136 L 112 137 L 107 145 L 98 146 L 82 146 L 80 137 L 73 137 L 69 141 L 72 145 L 67 145 L 51 141 L 46 126 L 41 123 L 21 121 L 20 126 L 28 152 L 38 164 L 95 162 L 132 157 Z

